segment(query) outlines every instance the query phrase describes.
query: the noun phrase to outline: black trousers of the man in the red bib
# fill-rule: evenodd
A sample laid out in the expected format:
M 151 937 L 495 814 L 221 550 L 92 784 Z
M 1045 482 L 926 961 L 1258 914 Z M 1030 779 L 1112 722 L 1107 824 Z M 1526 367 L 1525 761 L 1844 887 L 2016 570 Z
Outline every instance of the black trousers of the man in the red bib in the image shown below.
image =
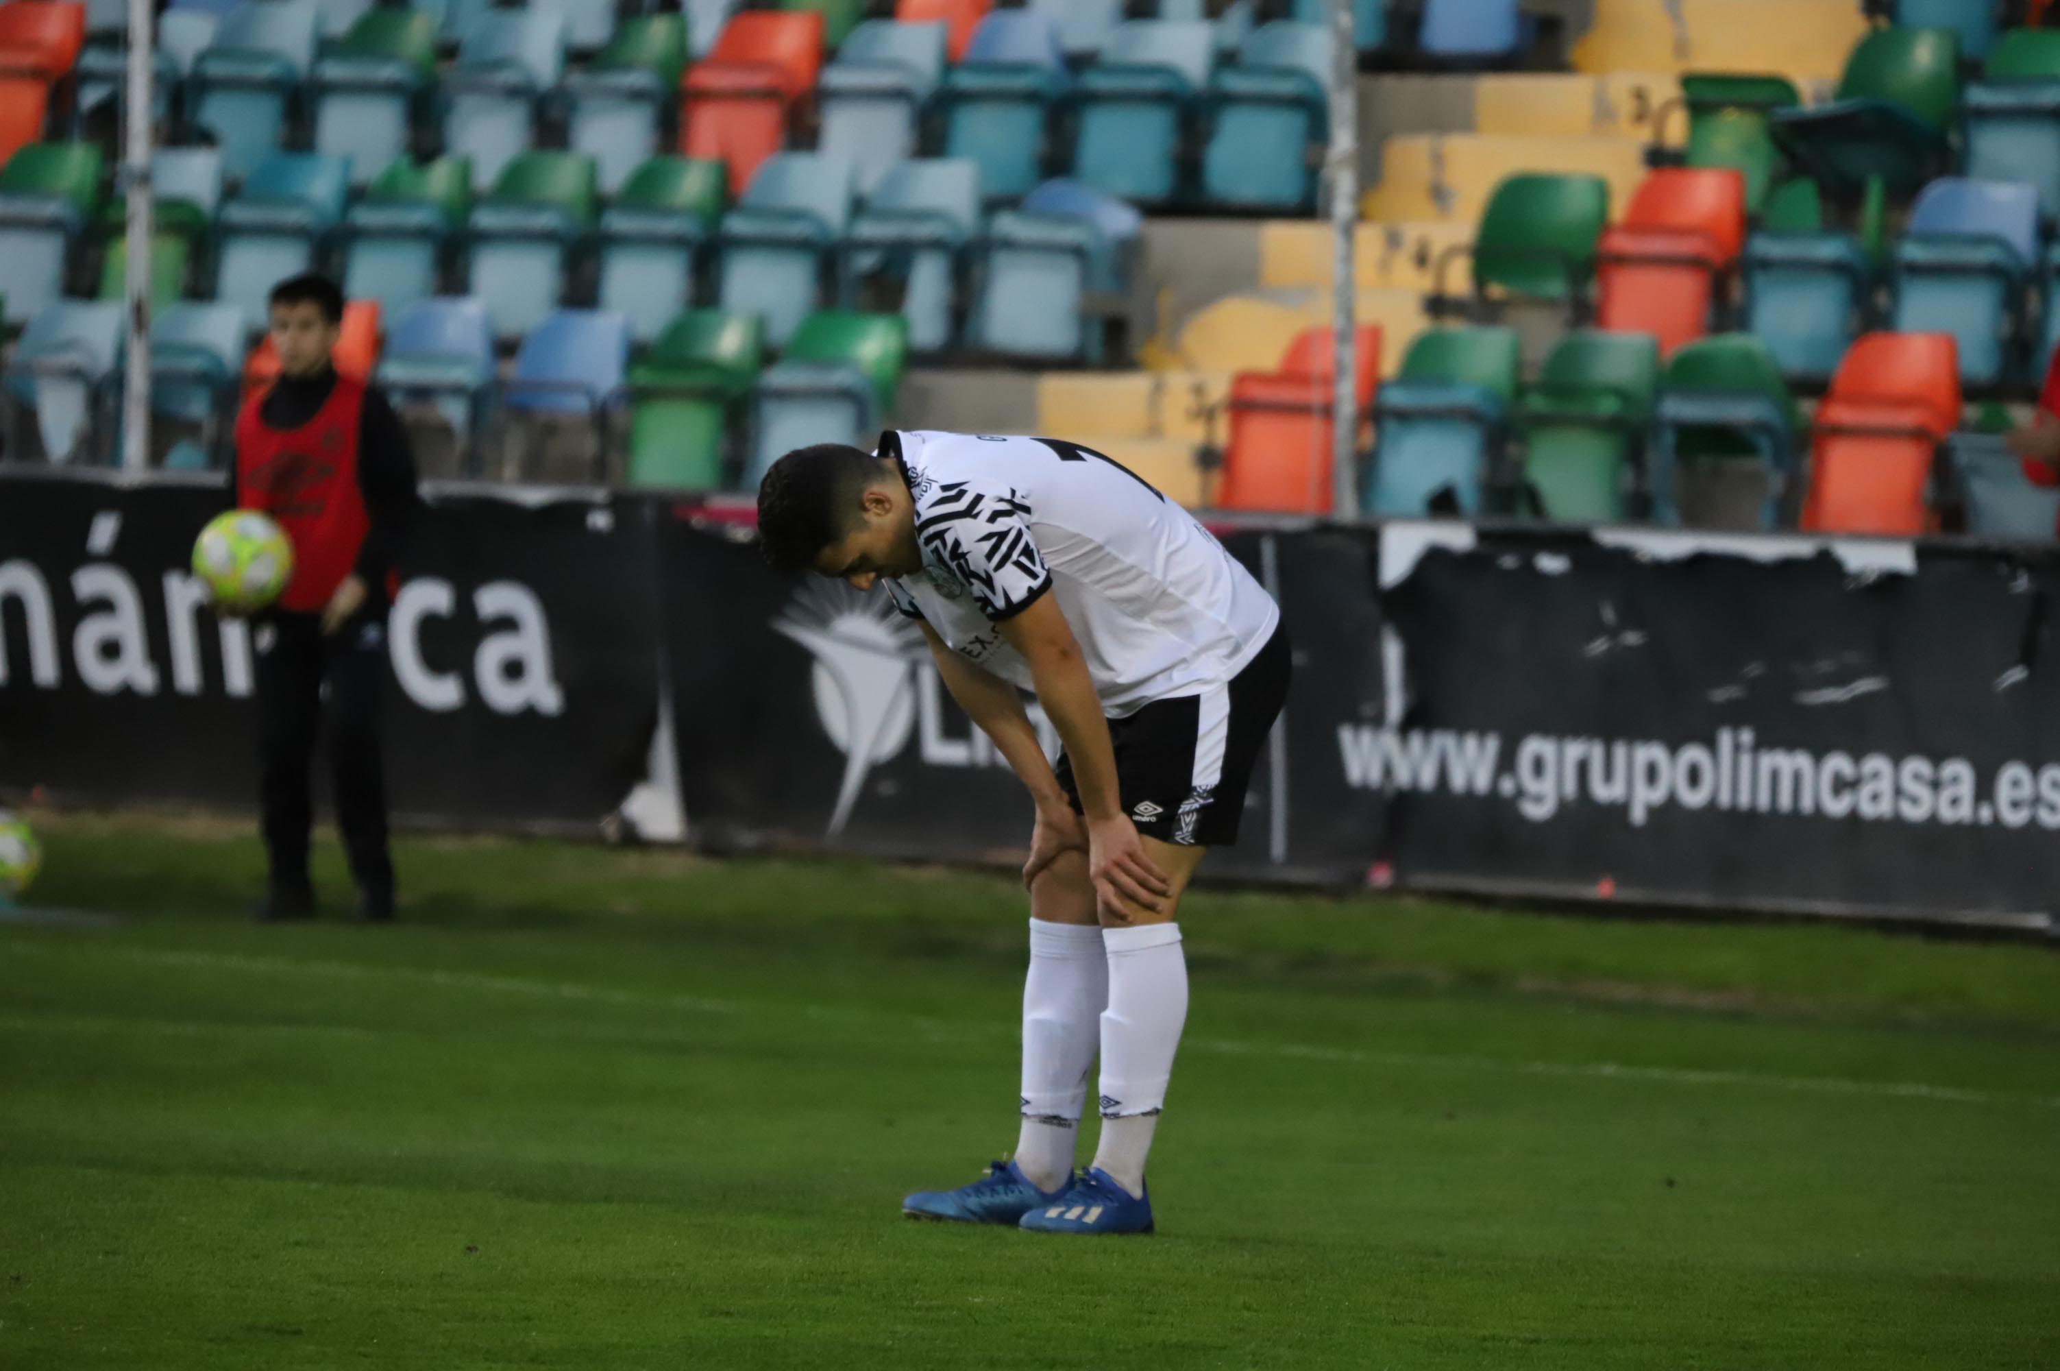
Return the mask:
M 336 827 L 350 874 L 367 897 L 391 901 L 393 862 L 387 856 L 385 767 L 379 757 L 385 606 L 369 604 L 328 637 L 319 614 L 274 612 L 260 621 L 258 643 L 258 798 L 272 889 L 305 893 L 311 887 L 309 765 L 328 717 Z

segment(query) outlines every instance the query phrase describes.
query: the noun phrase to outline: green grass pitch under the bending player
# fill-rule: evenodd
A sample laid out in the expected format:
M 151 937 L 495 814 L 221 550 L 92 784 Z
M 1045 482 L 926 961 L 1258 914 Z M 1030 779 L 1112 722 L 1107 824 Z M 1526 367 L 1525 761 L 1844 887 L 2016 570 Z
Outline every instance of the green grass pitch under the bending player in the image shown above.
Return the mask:
M 1160 1235 L 906 1223 L 1016 1128 L 995 876 L 37 816 L 0 1367 L 2060 1365 L 2060 957 L 1222 895 Z M 1092 1124 L 1090 1124 L 1092 1136 Z

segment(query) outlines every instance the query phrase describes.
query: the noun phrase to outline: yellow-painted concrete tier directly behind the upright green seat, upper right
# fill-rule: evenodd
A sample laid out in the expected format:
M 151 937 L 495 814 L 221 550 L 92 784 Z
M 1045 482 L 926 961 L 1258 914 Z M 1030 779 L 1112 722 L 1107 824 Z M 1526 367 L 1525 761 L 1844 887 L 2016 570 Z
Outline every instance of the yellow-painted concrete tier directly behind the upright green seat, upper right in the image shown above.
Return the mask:
M 1366 192 L 1360 216 L 1374 223 L 1456 219 L 1473 225 L 1496 186 L 1520 171 L 1599 175 L 1609 181 L 1611 206 L 1621 208 L 1646 175 L 1646 148 L 1638 138 L 1615 134 L 1405 134 L 1388 138 L 1380 183 Z

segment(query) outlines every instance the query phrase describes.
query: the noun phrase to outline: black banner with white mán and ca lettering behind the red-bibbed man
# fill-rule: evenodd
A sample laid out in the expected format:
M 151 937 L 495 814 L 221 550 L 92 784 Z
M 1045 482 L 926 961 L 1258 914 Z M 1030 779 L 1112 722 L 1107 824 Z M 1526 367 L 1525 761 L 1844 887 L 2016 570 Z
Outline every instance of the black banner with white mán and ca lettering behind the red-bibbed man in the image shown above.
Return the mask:
M 0 785 L 255 798 L 253 654 L 187 573 L 214 484 L 0 482 Z M 387 623 L 393 812 L 591 829 L 657 724 L 649 532 L 606 503 L 433 499 Z

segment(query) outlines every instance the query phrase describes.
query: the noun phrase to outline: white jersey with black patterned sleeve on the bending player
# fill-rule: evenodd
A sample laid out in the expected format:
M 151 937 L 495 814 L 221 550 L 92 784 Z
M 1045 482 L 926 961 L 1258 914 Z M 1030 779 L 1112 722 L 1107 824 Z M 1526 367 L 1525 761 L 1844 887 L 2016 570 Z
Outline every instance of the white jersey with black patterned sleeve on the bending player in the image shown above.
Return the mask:
M 1044 437 L 886 433 L 915 495 L 923 575 L 894 608 L 1022 689 L 1030 664 L 997 621 L 1057 596 L 1112 717 L 1228 684 L 1279 606 L 1209 530 L 1098 452 Z

